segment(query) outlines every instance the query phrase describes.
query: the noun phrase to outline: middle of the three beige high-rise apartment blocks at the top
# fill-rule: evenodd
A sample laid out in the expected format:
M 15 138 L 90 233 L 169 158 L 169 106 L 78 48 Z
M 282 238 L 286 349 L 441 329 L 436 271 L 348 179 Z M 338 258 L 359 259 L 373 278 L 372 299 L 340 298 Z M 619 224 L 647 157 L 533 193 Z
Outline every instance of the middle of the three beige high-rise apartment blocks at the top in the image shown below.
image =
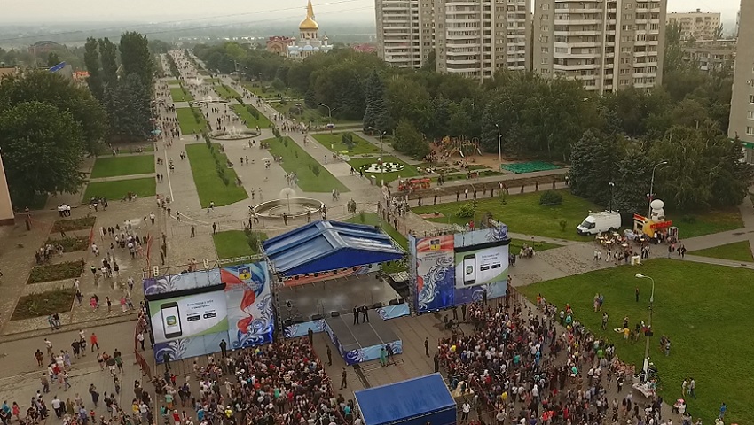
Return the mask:
M 435 0 L 436 70 L 489 78 L 530 70 L 531 0 Z

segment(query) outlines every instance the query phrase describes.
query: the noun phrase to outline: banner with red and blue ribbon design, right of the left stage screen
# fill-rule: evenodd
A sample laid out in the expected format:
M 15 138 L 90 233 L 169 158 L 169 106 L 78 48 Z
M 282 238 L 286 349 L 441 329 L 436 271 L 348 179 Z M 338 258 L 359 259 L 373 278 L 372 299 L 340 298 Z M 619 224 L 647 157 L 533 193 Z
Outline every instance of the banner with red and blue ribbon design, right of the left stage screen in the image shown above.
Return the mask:
M 228 348 L 270 343 L 275 317 L 267 263 L 223 267 L 220 273 L 228 305 Z

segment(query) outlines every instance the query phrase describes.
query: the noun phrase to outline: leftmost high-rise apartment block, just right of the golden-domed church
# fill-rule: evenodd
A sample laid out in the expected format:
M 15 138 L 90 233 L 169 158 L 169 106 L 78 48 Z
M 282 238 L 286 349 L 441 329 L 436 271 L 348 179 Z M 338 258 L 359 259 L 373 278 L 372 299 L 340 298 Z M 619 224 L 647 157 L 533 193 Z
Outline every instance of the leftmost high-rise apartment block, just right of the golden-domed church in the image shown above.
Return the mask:
M 433 7 L 433 0 L 376 0 L 380 58 L 391 66 L 422 66 L 435 49 Z

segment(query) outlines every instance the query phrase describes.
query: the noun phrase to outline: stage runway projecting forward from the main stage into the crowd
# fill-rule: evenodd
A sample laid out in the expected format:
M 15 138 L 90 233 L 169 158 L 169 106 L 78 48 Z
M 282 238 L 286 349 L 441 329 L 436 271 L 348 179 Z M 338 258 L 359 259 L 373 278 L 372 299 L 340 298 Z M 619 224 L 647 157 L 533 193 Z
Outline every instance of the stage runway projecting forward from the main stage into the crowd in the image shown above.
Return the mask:
M 386 344 L 394 354 L 403 352 L 403 343 L 396 333 L 375 313 L 370 311 L 370 321 L 357 325 L 353 324 L 353 313 L 325 319 L 325 332 L 347 365 L 380 359 L 381 348 Z

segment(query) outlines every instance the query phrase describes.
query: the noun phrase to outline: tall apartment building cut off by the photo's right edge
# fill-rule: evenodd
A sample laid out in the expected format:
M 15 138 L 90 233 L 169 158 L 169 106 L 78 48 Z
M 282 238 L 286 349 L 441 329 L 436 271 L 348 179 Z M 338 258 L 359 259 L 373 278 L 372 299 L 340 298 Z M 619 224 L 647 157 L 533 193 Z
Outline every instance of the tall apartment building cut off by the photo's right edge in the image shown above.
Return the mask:
M 741 25 L 738 27 L 730 102 L 728 137 L 738 136 L 746 149 L 746 161 L 754 163 L 754 2 L 741 0 Z

